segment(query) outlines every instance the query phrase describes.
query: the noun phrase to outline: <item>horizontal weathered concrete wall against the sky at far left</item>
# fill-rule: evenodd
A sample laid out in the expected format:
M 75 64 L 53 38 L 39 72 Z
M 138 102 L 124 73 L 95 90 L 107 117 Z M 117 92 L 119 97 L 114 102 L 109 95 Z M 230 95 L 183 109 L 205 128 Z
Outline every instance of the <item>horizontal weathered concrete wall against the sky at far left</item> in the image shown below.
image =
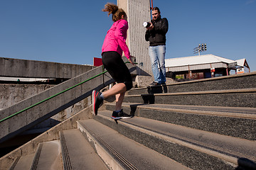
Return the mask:
M 0 57 L 0 77 L 71 79 L 92 68 L 95 67 Z

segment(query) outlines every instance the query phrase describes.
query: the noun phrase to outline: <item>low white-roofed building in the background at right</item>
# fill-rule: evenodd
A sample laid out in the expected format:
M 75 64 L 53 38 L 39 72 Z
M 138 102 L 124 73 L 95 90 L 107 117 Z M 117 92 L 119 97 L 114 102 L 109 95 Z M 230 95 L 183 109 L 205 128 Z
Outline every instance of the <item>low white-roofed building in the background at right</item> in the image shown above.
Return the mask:
M 245 59 L 229 60 L 216 55 L 196 55 L 166 59 L 166 77 L 170 72 L 183 74 L 184 79 L 204 79 L 230 75 L 234 70 L 236 74 L 250 72 Z

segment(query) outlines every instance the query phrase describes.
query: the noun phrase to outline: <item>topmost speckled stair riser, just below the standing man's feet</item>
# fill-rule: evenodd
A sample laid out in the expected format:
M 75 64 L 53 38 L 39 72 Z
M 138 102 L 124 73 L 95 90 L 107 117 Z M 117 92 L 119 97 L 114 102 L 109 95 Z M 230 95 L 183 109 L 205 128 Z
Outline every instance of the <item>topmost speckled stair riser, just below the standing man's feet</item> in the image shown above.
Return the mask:
M 167 86 L 157 86 L 147 89 L 134 89 L 127 91 L 129 95 L 135 94 L 159 94 L 159 93 L 174 93 L 186 91 L 212 91 L 212 90 L 227 90 L 227 89 L 251 89 L 256 88 L 256 74 L 247 75 L 244 77 L 220 77 L 214 79 L 202 79 L 200 81 L 186 81 L 178 84 Z

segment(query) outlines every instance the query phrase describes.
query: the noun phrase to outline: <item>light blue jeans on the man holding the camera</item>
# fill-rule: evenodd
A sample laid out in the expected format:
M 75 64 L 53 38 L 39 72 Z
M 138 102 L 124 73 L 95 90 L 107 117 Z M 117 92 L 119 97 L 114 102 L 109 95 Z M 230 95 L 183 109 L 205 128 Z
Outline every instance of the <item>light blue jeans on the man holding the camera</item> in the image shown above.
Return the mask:
M 154 81 L 159 84 L 166 82 L 165 52 L 165 45 L 149 46 L 149 57 Z

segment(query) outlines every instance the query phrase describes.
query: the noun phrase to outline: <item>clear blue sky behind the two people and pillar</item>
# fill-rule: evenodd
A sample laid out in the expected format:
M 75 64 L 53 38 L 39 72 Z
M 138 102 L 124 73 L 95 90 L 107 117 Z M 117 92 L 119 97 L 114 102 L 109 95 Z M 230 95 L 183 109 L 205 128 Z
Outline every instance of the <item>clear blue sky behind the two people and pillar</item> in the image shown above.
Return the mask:
M 102 12 L 114 0 L 0 0 L 0 57 L 92 64 L 112 26 Z M 153 0 L 169 20 L 166 59 L 213 54 L 246 58 L 256 71 L 256 0 Z

